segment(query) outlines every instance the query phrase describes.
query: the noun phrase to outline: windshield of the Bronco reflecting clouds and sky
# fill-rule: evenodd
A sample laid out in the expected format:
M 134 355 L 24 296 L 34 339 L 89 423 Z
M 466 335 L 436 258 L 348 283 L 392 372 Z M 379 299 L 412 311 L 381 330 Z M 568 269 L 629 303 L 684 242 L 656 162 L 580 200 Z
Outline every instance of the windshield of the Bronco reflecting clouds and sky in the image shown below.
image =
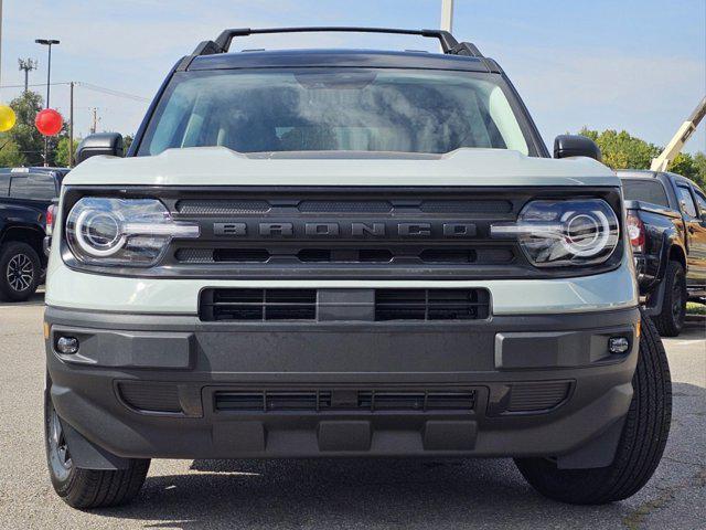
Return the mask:
M 503 88 L 448 71 L 299 68 L 176 74 L 138 155 L 514 149 L 527 155 Z

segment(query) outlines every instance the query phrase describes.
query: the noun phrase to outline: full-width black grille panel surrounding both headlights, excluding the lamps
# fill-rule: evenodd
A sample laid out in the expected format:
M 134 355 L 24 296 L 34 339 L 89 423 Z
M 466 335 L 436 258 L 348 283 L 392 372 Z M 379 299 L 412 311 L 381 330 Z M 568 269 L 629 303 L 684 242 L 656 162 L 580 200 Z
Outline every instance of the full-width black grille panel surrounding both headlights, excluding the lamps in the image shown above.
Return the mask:
M 84 195 L 156 198 L 175 221 L 199 224 L 151 267 L 72 268 L 105 275 L 208 279 L 510 279 L 585 276 L 617 268 L 623 245 L 599 266 L 537 268 L 517 242 L 490 237 L 531 200 L 602 198 L 611 187 L 68 187 L 66 213 Z M 621 215 L 619 215 L 621 218 Z

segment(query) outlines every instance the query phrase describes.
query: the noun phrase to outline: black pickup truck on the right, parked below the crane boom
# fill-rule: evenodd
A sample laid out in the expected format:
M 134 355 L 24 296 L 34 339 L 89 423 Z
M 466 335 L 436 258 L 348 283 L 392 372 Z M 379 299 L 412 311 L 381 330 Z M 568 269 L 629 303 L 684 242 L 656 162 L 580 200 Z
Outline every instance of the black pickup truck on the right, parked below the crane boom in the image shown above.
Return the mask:
M 676 337 L 686 303 L 706 303 L 706 194 L 682 176 L 619 171 L 640 295 L 660 333 Z

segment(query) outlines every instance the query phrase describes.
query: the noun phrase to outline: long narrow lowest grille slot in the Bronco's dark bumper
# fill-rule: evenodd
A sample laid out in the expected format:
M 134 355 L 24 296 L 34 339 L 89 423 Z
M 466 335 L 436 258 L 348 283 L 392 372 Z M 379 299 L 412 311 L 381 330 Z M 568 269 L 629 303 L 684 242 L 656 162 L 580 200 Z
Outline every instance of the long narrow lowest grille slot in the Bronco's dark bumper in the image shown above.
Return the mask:
M 216 391 L 216 412 L 457 412 L 475 407 L 474 390 Z

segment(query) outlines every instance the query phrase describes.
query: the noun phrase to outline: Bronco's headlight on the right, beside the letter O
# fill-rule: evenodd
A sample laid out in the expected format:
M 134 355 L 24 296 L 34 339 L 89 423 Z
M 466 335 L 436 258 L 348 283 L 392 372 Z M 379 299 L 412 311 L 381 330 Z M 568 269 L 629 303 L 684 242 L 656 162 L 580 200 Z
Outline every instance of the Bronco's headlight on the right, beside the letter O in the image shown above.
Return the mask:
M 514 225 L 493 225 L 494 237 L 516 235 L 537 267 L 595 265 L 608 259 L 620 239 L 618 216 L 602 199 L 532 201 Z

